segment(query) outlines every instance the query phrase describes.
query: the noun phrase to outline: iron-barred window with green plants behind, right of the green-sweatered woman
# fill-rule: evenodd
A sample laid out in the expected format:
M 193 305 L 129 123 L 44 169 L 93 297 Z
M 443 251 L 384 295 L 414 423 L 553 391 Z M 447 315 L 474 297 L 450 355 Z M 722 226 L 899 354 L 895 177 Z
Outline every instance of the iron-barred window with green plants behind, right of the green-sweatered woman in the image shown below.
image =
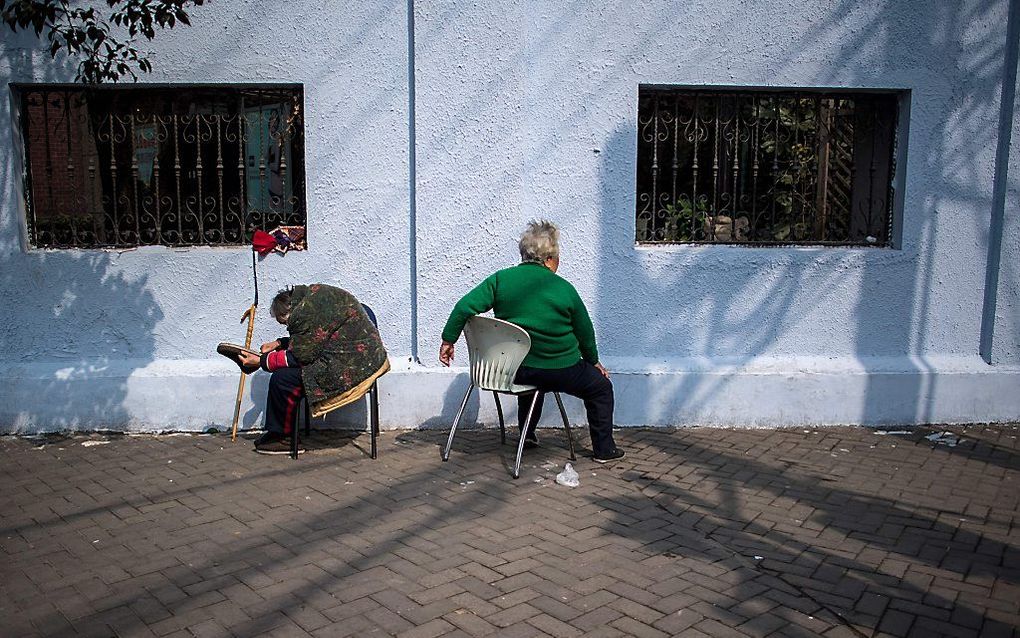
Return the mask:
M 639 243 L 888 246 L 899 94 L 642 86 Z

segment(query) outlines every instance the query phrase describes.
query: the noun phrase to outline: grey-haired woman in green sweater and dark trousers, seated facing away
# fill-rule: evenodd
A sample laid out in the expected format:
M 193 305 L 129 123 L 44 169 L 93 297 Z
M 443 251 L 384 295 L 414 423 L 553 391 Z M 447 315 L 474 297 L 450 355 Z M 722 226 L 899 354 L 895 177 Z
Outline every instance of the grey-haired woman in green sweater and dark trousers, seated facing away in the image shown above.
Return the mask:
M 519 248 L 521 263 L 489 276 L 454 306 L 443 329 L 440 362 L 450 365 L 454 343 L 469 317 L 493 310 L 497 318 L 520 326 L 531 337 L 531 350 L 514 380 L 541 391 L 526 428 L 531 399 L 517 398 L 524 447 L 539 444 L 534 429 L 544 393 L 566 392 L 584 401 L 595 460 L 622 458 L 623 451 L 613 441 L 613 384 L 599 361 L 592 320 L 574 287 L 556 275 L 559 230 L 550 222 L 532 222 L 521 235 Z

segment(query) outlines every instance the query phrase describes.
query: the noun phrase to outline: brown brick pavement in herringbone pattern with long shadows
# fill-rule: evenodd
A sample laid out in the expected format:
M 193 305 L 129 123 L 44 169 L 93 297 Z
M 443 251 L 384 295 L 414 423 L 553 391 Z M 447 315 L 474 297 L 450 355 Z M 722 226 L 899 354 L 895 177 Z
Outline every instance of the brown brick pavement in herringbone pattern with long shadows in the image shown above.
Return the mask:
M 5 636 L 1016 636 L 1020 431 L 0 439 Z M 93 442 L 103 442 L 95 444 Z

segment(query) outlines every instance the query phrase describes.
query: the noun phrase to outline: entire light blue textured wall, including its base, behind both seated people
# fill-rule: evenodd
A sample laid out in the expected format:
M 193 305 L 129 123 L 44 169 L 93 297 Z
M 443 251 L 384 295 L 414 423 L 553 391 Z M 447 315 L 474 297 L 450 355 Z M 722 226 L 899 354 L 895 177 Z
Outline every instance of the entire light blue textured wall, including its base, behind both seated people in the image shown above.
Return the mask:
M 310 250 L 263 262 L 263 299 L 322 281 L 371 303 L 403 361 L 384 384 L 389 425 L 450 416 L 464 378 L 436 361 L 446 315 L 515 262 L 516 237 L 534 216 L 562 228 L 561 274 L 618 371 L 621 423 L 982 421 L 1020 415 L 1012 403 L 985 409 L 962 398 L 974 387 L 997 396 L 1020 366 L 1015 301 L 1000 305 L 999 366 L 978 357 L 1008 4 L 414 2 L 416 296 L 405 3 L 214 2 L 195 9 L 193 28 L 151 44 L 151 81 L 304 84 Z M 5 35 L 0 77 L 68 75 L 34 40 Z M 909 90 L 903 248 L 635 247 L 642 83 Z M 248 252 L 26 252 L 12 148 L 4 125 L 0 360 L 12 366 L 0 373 L 0 399 L 6 392 L 16 407 L 0 410 L 0 429 L 228 420 L 236 376 L 207 353 L 243 335 Z M 1015 274 L 1000 281 L 1000 295 L 1015 300 Z M 263 312 L 257 339 L 274 332 Z M 420 364 L 407 361 L 413 339 Z M 843 394 L 848 371 L 854 391 Z M 971 381 L 954 382 L 961 374 Z M 774 385 L 755 385 L 763 375 Z M 90 404 L 97 377 L 106 381 Z M 153 410 L 160 379 L 174 401 Z M 748 388 L 765 387 L 768 396 L 749 400 Z M 257 380 L 248 425 L 263 394 Z M 184 404 L 202 396 L 203 405 Z M 812 402 L 832 400 L 846 405 L 813 421 Z M 476 418 L 490 421 L 487 409 Z

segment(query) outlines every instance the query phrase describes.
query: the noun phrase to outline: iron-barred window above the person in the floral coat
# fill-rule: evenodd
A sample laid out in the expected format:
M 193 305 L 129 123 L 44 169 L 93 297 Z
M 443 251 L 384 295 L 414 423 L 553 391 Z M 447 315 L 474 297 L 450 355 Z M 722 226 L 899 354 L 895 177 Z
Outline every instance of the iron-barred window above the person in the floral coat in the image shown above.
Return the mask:
M 14 85 L 30 244 L 243 245 L 305 225 L 300 85 Z

